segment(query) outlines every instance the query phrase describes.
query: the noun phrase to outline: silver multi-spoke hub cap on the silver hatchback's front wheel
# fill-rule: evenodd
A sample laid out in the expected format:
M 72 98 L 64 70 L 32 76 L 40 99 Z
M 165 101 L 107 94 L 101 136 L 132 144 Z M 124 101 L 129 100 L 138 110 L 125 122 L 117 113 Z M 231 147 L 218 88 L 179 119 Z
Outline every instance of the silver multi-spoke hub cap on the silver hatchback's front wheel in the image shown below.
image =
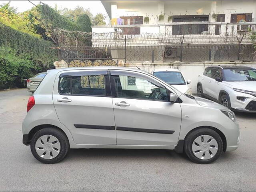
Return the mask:
M 208 160 L 218 152 L 218 143 L 210 135 L 201 135 L 194 140 L 192 151 L 197 158 Z

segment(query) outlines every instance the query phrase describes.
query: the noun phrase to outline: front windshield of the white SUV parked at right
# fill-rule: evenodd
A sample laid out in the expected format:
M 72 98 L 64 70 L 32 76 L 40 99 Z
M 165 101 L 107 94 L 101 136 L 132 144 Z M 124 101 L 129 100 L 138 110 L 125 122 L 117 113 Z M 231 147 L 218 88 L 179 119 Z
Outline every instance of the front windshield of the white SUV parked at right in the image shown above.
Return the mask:
M 225 81 L 256 81 L 255 69 L 224 69 Z

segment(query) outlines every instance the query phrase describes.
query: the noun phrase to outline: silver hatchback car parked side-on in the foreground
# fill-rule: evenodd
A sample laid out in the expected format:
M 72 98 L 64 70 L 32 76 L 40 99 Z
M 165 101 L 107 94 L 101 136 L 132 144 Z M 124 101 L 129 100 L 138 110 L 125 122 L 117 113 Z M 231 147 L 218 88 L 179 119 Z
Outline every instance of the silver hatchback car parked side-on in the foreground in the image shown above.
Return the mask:
M 47 164 L 70 148 L 167 149 L 206 164 L 240 142 L 228 108 L 122 67 L 48 70 L 28 100 L 22 132 Z

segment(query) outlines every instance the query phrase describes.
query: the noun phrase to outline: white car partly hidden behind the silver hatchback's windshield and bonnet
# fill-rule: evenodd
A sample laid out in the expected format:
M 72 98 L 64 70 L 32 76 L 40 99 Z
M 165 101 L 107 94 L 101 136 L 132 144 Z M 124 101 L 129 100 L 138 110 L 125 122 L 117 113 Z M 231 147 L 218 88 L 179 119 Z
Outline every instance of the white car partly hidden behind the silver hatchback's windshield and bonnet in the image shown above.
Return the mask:
M 180 90 L 180 92 L 192 95 L 191 88 L 188 87 L 191 80 L 186 80 L 180 70 L 174 68 L 160 68 L 155 69 L 152 74 Z

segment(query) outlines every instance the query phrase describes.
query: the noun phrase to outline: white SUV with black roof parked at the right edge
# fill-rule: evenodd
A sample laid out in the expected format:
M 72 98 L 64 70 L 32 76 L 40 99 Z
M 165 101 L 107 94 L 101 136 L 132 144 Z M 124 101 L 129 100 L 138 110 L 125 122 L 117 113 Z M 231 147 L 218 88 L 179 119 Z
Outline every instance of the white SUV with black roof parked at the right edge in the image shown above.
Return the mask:
M 246 66 L 214 66 L 199 75 L 197 93 L 223 106 L 256 112 L 256 70 Z

